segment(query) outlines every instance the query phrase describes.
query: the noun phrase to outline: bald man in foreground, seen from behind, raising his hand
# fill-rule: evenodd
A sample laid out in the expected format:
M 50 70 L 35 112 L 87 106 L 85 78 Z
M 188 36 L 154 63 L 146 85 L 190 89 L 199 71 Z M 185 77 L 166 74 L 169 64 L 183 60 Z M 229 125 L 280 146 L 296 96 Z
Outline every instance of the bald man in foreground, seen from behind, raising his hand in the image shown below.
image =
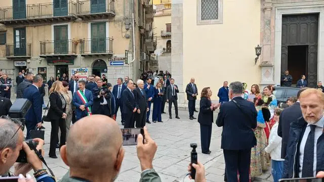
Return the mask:
M 157 146 L 146 128 L 144 136 L 145 144 L 139 134 L 137 145 L 140 181 L 160 182 L 152 165 Z M 124 155 L 123 136 L 116 121 L 104 115 L 84 117 L 71 126 L 66 145 L 61 147 L 62 160 L 70 167 L 61 181 L 114 181 Z

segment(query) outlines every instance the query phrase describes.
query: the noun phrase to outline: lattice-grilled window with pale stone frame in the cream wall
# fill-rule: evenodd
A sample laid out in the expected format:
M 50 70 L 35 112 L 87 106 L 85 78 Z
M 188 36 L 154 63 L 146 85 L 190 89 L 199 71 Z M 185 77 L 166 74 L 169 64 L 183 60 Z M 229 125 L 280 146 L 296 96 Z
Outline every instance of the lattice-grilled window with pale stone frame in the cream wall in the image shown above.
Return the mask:
M 223 23 L 223 0 L 197 1 L 197 25 Z

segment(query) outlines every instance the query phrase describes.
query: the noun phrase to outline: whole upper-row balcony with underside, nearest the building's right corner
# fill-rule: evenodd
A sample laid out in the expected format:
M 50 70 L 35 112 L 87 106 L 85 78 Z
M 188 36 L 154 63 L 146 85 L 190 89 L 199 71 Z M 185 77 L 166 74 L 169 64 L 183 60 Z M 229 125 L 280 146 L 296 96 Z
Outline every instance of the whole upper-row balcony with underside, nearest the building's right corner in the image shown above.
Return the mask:
M 92 3 L 93 0 L 77 1 L 77 17 L 83 20 L 107 19 L 115 16 L 115 1 L 105 0 Z

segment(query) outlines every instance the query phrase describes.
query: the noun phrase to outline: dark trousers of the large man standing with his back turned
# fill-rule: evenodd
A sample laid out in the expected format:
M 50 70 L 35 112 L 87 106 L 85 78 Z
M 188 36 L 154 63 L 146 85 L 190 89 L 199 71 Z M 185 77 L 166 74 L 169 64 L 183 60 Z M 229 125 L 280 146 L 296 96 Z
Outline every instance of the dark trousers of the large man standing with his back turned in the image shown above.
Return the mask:
M 251 149 L 223 150 L 225 172 L 228 182 L 237 182 L 237 170 L 240 182 L 249 182 L 251 164 Z

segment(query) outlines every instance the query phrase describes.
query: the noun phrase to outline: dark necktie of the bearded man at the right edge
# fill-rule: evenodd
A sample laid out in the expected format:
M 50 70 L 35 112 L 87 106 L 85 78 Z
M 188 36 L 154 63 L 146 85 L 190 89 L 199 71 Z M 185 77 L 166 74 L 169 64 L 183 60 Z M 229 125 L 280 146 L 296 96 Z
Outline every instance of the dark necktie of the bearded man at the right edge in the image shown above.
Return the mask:
M 315 140 L 315 128 L 316 125 L 309 125 L 310 132 L 307 136 L 305 148 L 302 177 L 314 177 L 313 164 L 314 164 L 314 140 Z

